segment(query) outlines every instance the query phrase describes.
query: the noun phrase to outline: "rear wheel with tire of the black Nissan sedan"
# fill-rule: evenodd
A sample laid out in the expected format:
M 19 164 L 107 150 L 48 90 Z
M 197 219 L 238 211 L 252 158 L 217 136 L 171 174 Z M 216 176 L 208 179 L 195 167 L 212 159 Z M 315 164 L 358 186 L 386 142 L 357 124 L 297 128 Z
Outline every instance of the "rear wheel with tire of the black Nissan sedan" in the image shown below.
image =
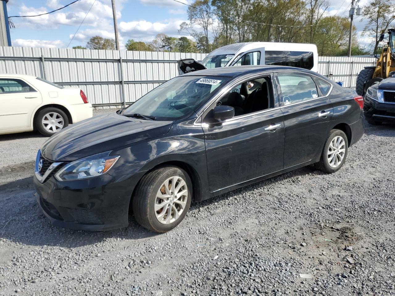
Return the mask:
M 332 129 L 325 141 L 320 161 L 314 163 L 316 169 L 332 174 L 337 172 L 346 161 L 348 139 L 340 129 Z

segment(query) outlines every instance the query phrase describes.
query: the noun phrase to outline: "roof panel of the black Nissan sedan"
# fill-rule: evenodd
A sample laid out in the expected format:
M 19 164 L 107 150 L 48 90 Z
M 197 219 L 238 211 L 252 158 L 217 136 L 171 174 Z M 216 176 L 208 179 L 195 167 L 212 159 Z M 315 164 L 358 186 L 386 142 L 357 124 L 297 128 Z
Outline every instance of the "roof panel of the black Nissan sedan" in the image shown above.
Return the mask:
M 242 74 L 247 73 L 261 73 L 263 71 L 277 71 L 277 70 L 290 70 L 290 71 L 298 71 L 303 73 L 312 73 L 310 70 L 297 68 L 297 67 L 288 67 L 288 66 L 231 66 L 231 67 L 218 67 L 212 69 L 205 69 L 194 71 L 190 73 L 183 74 L 182 76 L 225 76 L 225 77 L 236 77 Z M 314 72 L 315 73 L 315 72 Z

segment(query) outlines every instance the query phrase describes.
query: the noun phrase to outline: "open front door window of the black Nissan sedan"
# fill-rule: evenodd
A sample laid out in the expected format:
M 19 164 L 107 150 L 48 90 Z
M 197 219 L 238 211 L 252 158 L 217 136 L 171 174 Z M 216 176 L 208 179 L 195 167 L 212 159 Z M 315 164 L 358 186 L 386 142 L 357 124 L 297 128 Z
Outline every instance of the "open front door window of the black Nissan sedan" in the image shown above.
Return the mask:
M 251 85 L 254 86 L 252 91 L 250 91 Z M 233 107 L 235 116 L 272 108 L 274 100 L 270 76 L 250 79 L 239 84 L 221 97 L 216 105 Z

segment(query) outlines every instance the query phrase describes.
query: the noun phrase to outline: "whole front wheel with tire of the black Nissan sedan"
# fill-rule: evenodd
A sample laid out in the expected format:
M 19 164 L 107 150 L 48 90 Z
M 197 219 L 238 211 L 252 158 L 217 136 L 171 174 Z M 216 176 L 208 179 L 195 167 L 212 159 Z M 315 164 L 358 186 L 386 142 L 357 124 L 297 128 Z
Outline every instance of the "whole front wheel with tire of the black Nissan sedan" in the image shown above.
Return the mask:
M 161 167 L 141 179 L 132 209 L 141 226 L 163 233 L 181 223 L 191 200 L 192 183 L 188 174 L 179 167 Z

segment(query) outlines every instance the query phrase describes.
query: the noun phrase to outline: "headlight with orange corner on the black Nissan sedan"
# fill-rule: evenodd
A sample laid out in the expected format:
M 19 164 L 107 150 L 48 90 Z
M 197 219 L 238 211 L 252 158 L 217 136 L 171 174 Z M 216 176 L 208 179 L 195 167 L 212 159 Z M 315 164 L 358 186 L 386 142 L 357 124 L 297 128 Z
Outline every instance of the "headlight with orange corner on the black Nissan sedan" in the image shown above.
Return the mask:
M 117 162 L 120 155 L 111 155 L 111 151 L 95 154 L 72 161 L 60 169 L 55 178 L 58 181 L 74 181 L 96 177 L 107 172 Z

